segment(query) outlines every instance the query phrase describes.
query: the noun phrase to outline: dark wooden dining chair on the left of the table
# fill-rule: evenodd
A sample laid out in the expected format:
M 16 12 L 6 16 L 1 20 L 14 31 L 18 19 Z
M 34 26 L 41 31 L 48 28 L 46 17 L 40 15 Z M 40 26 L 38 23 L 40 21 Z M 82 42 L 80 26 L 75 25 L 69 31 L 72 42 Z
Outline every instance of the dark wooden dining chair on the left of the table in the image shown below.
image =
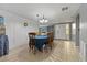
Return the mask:
M 29 51 L 33 51 L 35 50 L 35 35 L 36 33 L 28 33 L 29 34 Z

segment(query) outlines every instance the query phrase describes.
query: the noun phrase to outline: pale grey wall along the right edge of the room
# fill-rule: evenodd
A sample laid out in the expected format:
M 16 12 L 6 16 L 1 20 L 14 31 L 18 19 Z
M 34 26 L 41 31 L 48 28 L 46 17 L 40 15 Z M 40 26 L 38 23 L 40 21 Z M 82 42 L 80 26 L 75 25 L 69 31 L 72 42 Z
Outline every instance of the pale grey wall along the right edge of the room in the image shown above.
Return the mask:
M 87 4 L 81 4 L 79 9 L 80 14 L 80 54 L 83 61 L 87 61 Z

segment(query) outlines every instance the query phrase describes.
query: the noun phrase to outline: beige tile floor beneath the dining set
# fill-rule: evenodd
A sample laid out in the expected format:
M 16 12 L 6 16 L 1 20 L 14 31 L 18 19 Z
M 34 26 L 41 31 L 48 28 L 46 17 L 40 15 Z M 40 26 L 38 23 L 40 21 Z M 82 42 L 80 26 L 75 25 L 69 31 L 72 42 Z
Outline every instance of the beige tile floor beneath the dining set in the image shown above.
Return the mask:
M 53 50 L 48 53 L 29 52 L 28 44 L 10 51 L 9 55 L 0 57 L 1 62 L 79 62 L 80 56 L 74 42 L 54 41 Z

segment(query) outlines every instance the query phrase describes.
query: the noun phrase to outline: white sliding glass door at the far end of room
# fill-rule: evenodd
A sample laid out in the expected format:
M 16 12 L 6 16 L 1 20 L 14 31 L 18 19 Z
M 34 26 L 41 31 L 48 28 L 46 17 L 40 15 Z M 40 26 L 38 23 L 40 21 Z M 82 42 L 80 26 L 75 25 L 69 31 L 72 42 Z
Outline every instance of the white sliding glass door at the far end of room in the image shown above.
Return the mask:
M 70 23 L 62 23 L 55 25 L 55 39 L 70 40 Z

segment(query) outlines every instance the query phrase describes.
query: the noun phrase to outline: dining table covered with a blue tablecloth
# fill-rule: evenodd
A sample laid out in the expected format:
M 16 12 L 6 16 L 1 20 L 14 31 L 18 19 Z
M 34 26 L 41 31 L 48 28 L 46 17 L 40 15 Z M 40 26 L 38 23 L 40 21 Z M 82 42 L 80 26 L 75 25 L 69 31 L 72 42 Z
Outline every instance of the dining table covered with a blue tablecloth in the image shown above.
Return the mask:
M 42 51 L 43 45 L 45 45 L 45 43 L 47 43 L 47 35 L 35 35 L 35 47 L 39 51 Z

